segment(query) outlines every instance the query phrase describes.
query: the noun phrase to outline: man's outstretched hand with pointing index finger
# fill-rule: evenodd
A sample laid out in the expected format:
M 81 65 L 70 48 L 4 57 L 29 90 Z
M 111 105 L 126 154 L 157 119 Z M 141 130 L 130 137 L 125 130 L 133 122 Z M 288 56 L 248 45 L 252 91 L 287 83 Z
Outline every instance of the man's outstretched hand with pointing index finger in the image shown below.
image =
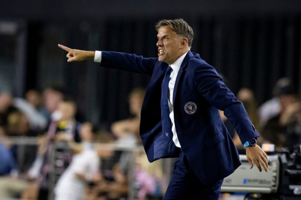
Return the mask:
M 64 49 L 66 52 L 68 52 L 66 55 L 66 57 L 68 58 L 68 62 L 82 61 L 87 59 L 94 60 L 95 52 L 93 51 L 82 51 L 77 49 L 71 49 L 61 44 L 59 44 L 58 46 Z

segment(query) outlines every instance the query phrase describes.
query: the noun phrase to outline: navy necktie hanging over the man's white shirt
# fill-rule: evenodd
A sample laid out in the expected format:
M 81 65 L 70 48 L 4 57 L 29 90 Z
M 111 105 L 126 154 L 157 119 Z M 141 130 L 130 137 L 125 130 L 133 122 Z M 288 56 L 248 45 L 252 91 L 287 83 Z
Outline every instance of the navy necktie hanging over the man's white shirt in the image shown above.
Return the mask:
M 169 117 L 168 106 L 168 84 L 172 68 L 168 66 L 165 76 L 162 81 L 162 94 L 161 94 L 161 120 L 162 120 L 162 134 L 166 138 L 172 138 L 172 122 Z

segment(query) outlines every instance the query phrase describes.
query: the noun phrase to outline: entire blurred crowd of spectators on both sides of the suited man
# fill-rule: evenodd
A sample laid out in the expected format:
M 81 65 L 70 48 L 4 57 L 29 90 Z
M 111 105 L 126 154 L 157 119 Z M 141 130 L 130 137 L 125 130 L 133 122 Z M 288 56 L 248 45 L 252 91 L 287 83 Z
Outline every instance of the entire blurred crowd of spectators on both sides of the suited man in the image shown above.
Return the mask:
M 143 151 L 122 150 L 141 145 L 144 94 L 135 88 L 129 94 L 131 116 L 101 130 L 78 118 L 76 102 L 59 87 L 31 89 L 24 98 L 0 91 L 0 199 L 127 199 L 129 183 L 135 199 L 162 199 L 168 183 L 162 161 L 149 163 Z M 272 143 L 281 151 L 301 143 L 300 100 L 288 78 L 277 81 L 273 97 L 260 107 L 251 89 L 240 89 L 236 97 L 261 135 L 259 145 Z M 223 111 L 220 115 L 243 148 Z M 36 142 L 22 146 L 16 136 Z

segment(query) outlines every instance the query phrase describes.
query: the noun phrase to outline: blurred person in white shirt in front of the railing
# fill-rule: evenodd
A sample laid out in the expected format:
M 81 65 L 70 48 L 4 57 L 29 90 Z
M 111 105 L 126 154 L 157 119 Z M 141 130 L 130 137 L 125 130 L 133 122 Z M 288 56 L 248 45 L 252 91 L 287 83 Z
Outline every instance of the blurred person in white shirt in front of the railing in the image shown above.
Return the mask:
M 91 144 L 96 133 L 97 128 L 91 123 L 82 124 L 80 131 L 82 151 L 73 156 L 72 162 L 59 178 L 54 190 L 56 200 L 86 199 L 84 196 L 85 184 L 99 181 L 99 157 Z

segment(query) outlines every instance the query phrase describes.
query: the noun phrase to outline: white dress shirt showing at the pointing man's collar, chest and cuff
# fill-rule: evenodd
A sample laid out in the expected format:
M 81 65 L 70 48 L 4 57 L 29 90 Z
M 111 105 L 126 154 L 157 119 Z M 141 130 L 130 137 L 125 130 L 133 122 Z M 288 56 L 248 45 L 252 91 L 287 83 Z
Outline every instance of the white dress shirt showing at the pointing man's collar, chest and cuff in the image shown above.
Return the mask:
M 175 118 L 173 114 L 173 89 L 175 88 L 175 83 L 177 79 L 178 72 L 180 70 L 181 64 L 188 52 L 184 53 L 180 58 L 178 58 L 174 63 L 172 63 L 170 66 L 172 68 L 172 71 L 170 73 L 169 83 L 168 83 L 168 107 L 169 107 L 169 117 L 172 121 L 172 141 L 175 143 L 177 147 L 181 148 L 177 132 L 176 132 L 176 126 L 175 126 Z M 95 51 L 95 57 L 94 62 L 100 63 L 101 62 L 101 51 Z

